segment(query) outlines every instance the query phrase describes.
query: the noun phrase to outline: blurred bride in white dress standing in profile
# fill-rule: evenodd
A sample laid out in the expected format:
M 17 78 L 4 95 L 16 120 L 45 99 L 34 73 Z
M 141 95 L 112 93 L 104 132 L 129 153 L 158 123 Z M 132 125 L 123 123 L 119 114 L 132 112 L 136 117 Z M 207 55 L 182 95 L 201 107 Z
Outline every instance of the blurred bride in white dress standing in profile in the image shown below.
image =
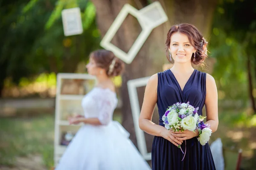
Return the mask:
M 113 121 L 117 105 L 111 77 L 118 76 L 123 62 L 111 51 L 90 54 L 88 73 L 98 84 L 82 99 L 84 116 L 69 119 L 70 124 L 83 122 L 55 170 L 149 170 L 148 163 L 128 138 L 129 133 Z

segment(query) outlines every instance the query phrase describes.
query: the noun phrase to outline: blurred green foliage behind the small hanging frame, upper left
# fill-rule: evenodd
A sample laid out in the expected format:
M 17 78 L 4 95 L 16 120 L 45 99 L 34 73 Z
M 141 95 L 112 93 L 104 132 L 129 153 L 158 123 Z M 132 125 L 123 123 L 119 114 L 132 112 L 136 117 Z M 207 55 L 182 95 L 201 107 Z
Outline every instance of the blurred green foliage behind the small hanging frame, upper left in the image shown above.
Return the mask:
M 64 37 L 61 11 L 80 7 L 83 34 Z M 0 6 L 0 82 L 42 72 L 74 72 L 99 48 L 95 8 L 87 0 L 17 0 Z M 0 83 L 0 89 L 1 87 Z

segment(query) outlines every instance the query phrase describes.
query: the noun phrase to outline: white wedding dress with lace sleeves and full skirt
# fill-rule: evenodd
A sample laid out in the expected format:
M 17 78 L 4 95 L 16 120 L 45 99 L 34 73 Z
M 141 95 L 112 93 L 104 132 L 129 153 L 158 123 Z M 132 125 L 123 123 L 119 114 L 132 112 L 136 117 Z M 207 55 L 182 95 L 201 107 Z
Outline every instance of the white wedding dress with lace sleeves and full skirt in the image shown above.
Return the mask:
M 67 146 L 55 170 L 150 170 L 129 139 L 129 133 L 113 121 L 116 94 L 93 88 L 82 99 L 86 118 L 97 117 L 103 125 L 83 125 Z

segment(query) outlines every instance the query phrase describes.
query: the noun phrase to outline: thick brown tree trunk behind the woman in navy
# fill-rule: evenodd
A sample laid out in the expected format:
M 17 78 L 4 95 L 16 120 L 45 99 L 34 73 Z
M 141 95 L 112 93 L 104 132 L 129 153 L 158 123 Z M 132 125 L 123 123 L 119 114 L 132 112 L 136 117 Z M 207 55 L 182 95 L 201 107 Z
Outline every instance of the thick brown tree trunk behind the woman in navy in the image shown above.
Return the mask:
M 96 18 L 102 37 L 108 31 L 113 20 L 125 3 L 129 3 L 137 9 L 147 5 L 146 0 L 92 0 L 96 6 Z M 160 0 L 169 21 L 154 28 L 143 47 L 140 49 L 133 62 L 125 65 L 125 73 L 122 75 L 122 125 L 131 134 L 131 141 L 137 146 L 134 131 L 134 123 L 131 114 L 131 106 L 128 96 L 127 81 L 140 77 L 151 76 L 162 71 L 163 64 L 167 63 L 165 41 L 170 26 L 178 23 L 194 24 L 203 34 L 208 37 L 212 24 L 212 15 L 216 6 L 215 0 Z M 114 45 L 125 52 L 136 40 L 141 29 L 137 20 L 128 15 L 117 34 L 111 41 Z M 138 88 L 140 106 L 142 105 L 145 88 Z M 153 122 L 158 124 L 158 114 L 153 116 Z M 151 150 L 153 136 L 146 135 L 148 152 Z

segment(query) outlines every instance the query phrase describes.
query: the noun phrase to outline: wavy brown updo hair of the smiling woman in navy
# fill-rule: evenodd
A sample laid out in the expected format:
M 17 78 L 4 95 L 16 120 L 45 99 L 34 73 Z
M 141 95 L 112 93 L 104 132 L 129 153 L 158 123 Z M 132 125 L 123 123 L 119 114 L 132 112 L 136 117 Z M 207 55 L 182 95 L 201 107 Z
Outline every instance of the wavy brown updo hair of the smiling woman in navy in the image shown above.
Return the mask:
M 191 57 L 191 62 L 195 65 L 204 65 L 204 59 L 207 58 L 207 44 L 208 42 L 204 39 L 202 34 L 198 31 L 198 29 L 191 25 L 191 24 L 178 24 L 174 25 L 170 28 L 167 33 L 167 40 L 166 40 L 166 57 L 168 57 L 168 49 L 170 48 L 171 37 L 173 33 L 182 33 L 186 34 L 189 38 L 189 42 L 193 45 L 196 49 L 195 52 L 195 61 L 194 60 L 194 53 Z M 169 60 L 170 61 L 170 60 Z

